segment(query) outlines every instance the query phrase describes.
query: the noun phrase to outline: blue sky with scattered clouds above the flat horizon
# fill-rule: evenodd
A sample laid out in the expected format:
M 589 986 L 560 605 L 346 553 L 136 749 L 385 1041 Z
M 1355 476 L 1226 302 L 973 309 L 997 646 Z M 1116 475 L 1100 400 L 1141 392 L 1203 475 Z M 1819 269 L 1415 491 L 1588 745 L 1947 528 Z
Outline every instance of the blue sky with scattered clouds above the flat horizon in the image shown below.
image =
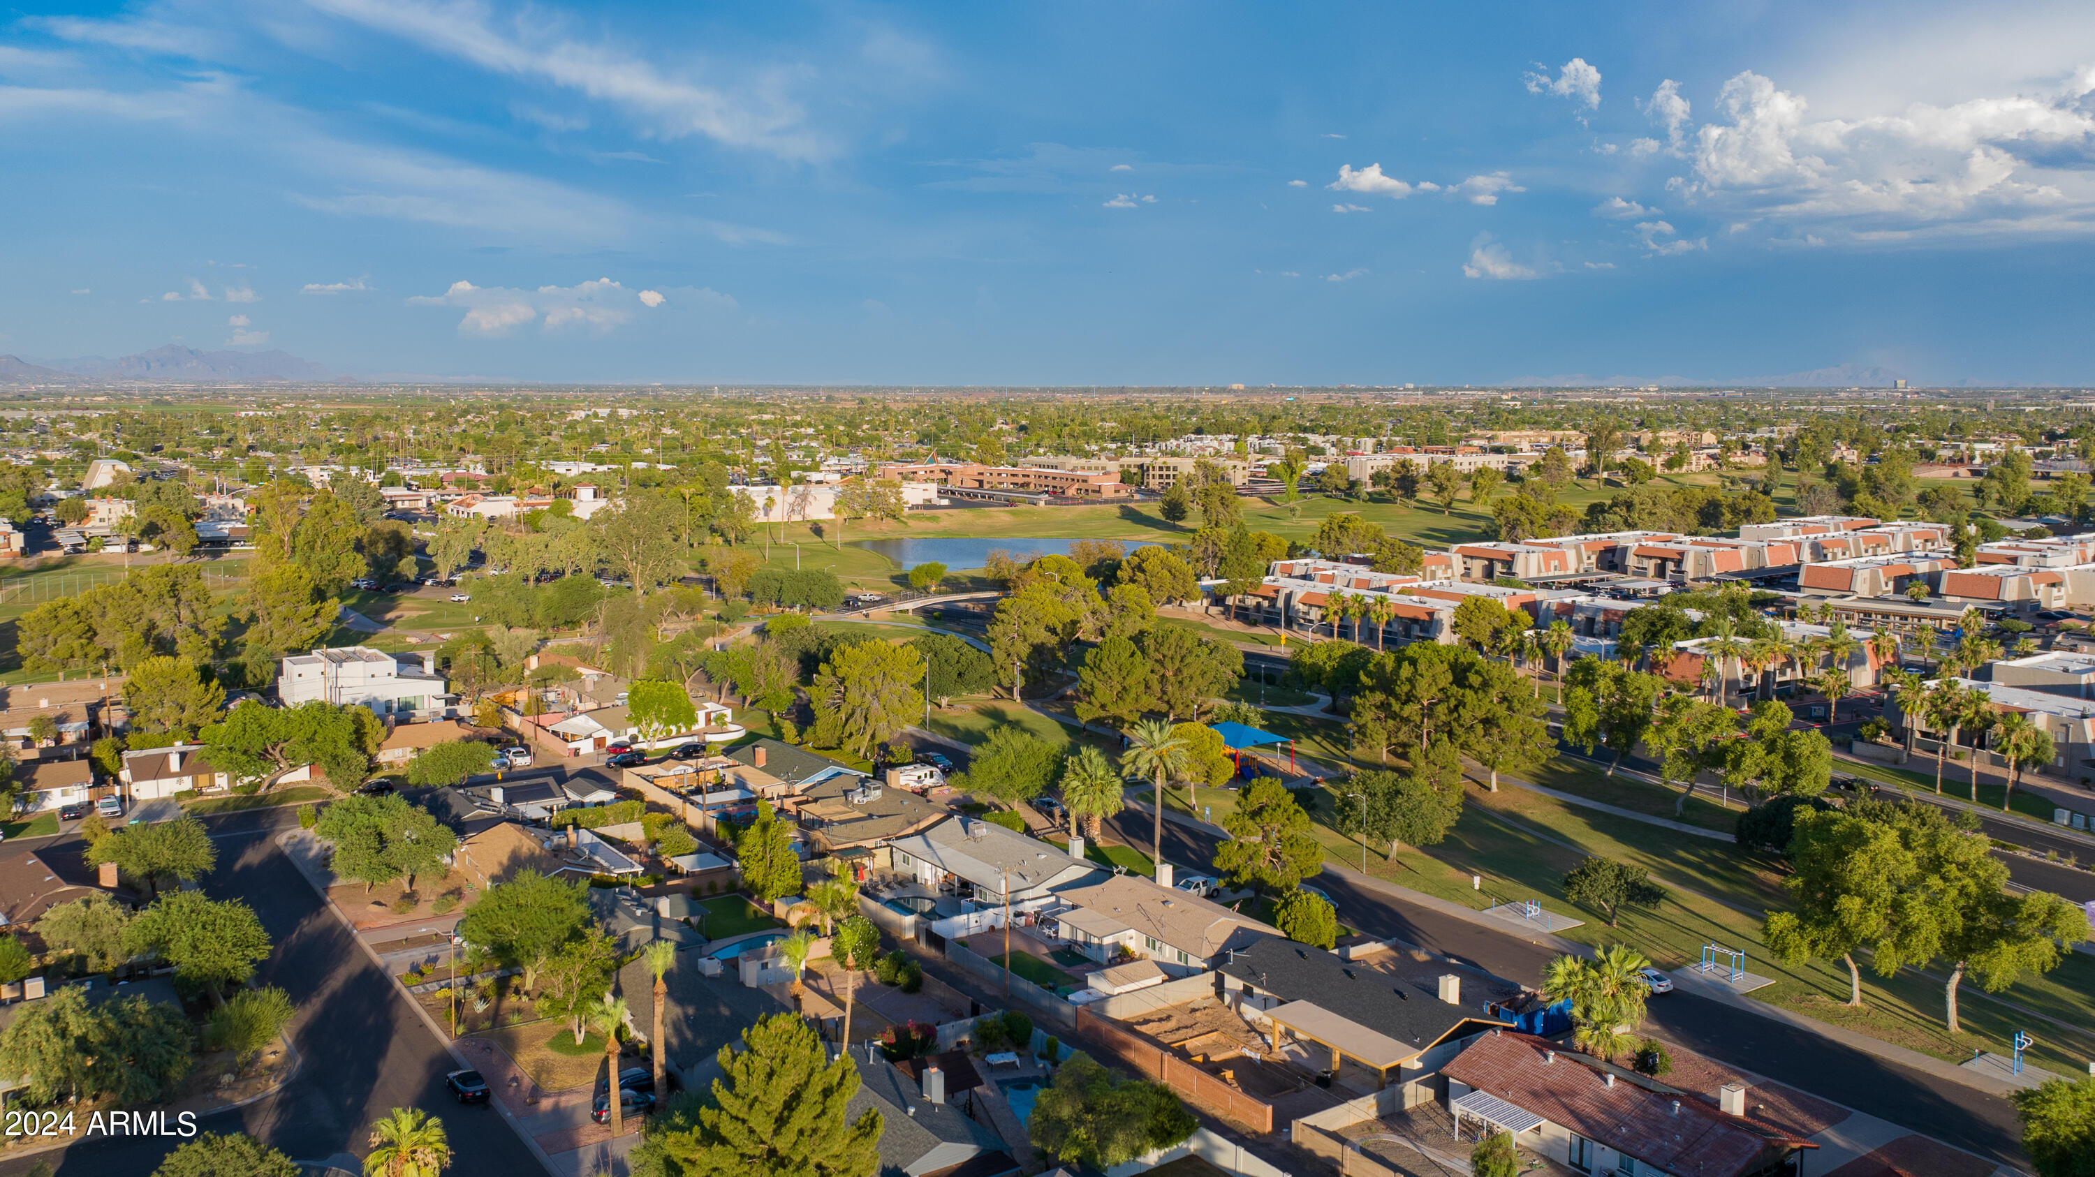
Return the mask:
M 174 0 L 0 27 L 21 356 L 2095 383 L 2089 4 Z

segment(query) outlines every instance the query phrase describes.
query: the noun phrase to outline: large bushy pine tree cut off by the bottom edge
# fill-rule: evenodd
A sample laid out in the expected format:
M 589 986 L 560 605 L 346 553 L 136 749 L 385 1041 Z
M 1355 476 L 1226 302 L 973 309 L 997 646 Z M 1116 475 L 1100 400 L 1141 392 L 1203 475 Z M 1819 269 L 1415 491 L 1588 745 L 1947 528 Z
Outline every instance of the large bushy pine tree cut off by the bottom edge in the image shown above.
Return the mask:
M 815 1030 L 792 1014 L 773 1014 L 742 1032 L 742 1049 L 721 1047 L 712 1100 L 687 1129 L 649 1133 L 635 1150 L 635 1171 L 656 1167 L 679 1177 L 867 1177 L 880 1169 L 880 1112 L 851 1118 L 859 1064 L 836 1060 Z

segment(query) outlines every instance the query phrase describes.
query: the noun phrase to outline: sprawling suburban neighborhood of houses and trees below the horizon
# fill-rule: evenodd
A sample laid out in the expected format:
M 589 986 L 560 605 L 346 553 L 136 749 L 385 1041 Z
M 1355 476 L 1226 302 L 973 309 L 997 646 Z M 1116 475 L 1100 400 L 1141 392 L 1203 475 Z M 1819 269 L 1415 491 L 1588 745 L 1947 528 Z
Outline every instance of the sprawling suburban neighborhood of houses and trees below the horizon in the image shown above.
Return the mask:
M 329 398 L 0 417 L 0 1173 L 2095 1133 L 2085 406 Z

